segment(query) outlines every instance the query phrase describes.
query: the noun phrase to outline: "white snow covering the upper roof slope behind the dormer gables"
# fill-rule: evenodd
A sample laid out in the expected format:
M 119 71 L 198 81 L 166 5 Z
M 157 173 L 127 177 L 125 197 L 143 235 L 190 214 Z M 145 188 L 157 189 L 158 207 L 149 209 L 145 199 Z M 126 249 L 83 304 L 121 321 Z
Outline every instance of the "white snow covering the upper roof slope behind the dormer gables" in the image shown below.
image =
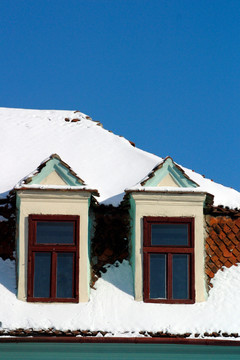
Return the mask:
M 99 191 L 100 202 L 118 205 L 126 188 L 162 162 L 81 112 L 0 108 L 0 132 L 0 197 L 56 153 L 88 188 Z M 214 205 L 240 208 L 238 191 L 183 170 L 200 185 L 199 191 L 214 195 Z

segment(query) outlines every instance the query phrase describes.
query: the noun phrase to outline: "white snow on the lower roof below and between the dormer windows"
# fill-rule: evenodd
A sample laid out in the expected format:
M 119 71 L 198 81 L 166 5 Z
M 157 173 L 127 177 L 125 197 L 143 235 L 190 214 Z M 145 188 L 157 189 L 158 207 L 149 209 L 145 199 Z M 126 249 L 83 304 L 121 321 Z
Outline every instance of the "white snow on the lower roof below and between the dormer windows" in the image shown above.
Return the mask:
M 106 331 L 106 336 L 141 336 L 140 331 L 172 334 L 238 333 L 240 266 L 223 268 L 213 279 L 206 302 L 193 305 L 134 301 L 132 269 L 109 265 L 91 289 L 90 301 L 79 304 L 26 303 L 16 298 L 15 263 L 0 259 L 0 329 Z

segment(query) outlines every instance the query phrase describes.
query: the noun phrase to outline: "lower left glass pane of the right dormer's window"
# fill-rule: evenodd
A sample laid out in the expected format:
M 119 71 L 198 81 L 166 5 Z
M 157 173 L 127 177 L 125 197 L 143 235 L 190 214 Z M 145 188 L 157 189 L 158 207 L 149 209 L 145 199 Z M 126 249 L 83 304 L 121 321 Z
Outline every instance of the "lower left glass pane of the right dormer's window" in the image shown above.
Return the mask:
M 165 254 L 150 254 L 150 299 L 166 299 Z

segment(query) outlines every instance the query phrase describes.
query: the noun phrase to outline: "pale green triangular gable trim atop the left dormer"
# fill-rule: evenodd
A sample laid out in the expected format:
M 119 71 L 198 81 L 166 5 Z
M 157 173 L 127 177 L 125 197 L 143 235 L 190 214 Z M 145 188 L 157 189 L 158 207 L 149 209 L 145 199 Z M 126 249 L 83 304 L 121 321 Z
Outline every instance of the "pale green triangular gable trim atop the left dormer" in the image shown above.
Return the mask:
M 64 163 L 57 154 L 53 154 L 50 158 L 42 163 L 37 173 L 31 178 L 28 178 L 25 183 L 28 185 L 41 184 L 50 174 L 57 173 L 63 183 L 68 186 L 83 186 L 84 181 L 80 179 L 72 169 Z

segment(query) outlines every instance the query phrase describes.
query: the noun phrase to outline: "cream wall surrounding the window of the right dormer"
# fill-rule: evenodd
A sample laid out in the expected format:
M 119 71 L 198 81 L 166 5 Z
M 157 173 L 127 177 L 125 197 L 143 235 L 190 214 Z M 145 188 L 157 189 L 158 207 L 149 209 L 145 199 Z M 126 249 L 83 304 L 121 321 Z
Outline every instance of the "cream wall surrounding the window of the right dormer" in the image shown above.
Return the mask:
M 205 194 L 149 194 L 132 193 L 136 204 L 135 218 L 135 299 L 143 300 L 143 217 L 193 217 L 195 219 L 195 294 L 196 302 L 207 297 L 204 271 L 204 218 Z

